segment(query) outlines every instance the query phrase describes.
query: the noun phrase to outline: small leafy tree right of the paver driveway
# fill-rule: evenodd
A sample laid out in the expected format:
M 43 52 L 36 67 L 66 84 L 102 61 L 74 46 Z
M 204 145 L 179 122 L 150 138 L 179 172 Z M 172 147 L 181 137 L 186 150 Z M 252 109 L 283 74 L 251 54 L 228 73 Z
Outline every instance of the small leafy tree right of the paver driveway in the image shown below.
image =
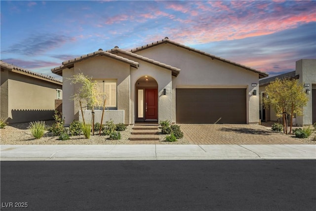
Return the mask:
M 264 98 L 265 106 L 271 105 L 276 111 L 277 117 L 283 119 L 283 132 L 287 134 L 287 112 L 290 111 L 292 130 L 293 114 L 302 115 L 303 107 L 306 106 L 308 98 L 303 90 L 303 85 L 295 80 L 276 79 L 266 87 L 269 98 Z

